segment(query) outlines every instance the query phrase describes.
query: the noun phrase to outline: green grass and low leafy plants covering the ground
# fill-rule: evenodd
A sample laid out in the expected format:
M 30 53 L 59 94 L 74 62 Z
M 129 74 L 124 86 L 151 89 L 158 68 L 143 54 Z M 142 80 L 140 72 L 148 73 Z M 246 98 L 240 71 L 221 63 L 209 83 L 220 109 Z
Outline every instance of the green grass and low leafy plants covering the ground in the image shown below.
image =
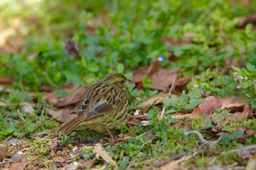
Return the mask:
M 161 68 L 179 69 L 178 77 L 192 77 L 187 90 L 180 98 L 169 98 L 166 118 L 159 120 L 159 111 L 148 111 L 150 125 L 135 126 L 135 134 L 119 144 L 112 144 L 108 136 L 101 136 L 87 128 L 62 136 L 61 151 L 57 155 L 67 155 L 67 150 L 94 141 L 104 144 L 120 169 L 145 169 L 152 163 L 170 158 L 172 155 L 188 152 L 197 155 L 181 163 L 188 169 L 203 169 L 208 166 L 223 167 L 238 162 L 245 166 L 246 161 L 228 151 L 256 142 L 255 135 L 241 140 L 232 140 L 241 136 L 238 128 L 255 130 L 255 117 L 246 120 L 230 120 L 223 124 L 222 141 L 217 146 L 202 146 L 197 136 L 184 136 L 183 128 L 191 125 L 197 131 L 206 131 L 206 139 L 217 139 L 210 129 L 211 120 L 203 123 L 204 118 L 176 120 L 171 117 L 175 112 L 191 113 L 207 96 L 231 96 L 242 94 L 246 103 L 256 107 L 255 65 L 256 33 L 253 26 L 236 28 L 238 18 L 255 11 L 256 2 L 245 7 L 241 1 L 3 1 L 0 6 L 0 32 L 14 28 L 15 34 L 6 40 L 12 45 L 18 44 L 17 37 L 23 39 L 23 45 L 8 51 L 7 46 L 0 50 L 0 76 L 13 77 L 11 85 L 0 91 L 0 101 L 8 104 L 0 107 L 0 142 L 8 138 L 26 137 L 29 142 L 20 147 L 29 147 L 28 160 L 42 155 L 40 167 L 56 166 L 51 160 L 49 146 L 52 140 L 44 135 L 37 138 L 33 134 L 50 130 L 53 134 L 59 123 L 50 117 L 44 108 L 53 107 L 43 101 L 45 92 L 42 87 L 52 87 L 59 96 L 69 91 L 59 90 L 62 85 L 73 82 L 75 87 L 88 87 L 105 74 L 121 72 L 127 77 L 140 66 L 149 66 L 159 55 L 165 60 Z M 16 20 L 17 26 L 13 23 Z M 187 34 L 192 40 L 184 42 Z M 171 46 L 163 40 L 169 38 Z M 16 43 L 17 42 L 17 43 Z M 68 42 L 68 45 L 64 45 Z M 78 46 L 78 47 L 77 47 Z M 230 65 L 234 63 L 235 66 Z M 241 65 L 236 65 L 242 61 Z M 230 68 L 232 66 L 232 68 Z M 219 75 L 219 70 L 225 70 Z M 239 82 L 233 72 L 244 79 Z M 238 88 L 241 85 L 241 88 Z M 156 96 L 159 91 L 151 90 L 152 83 L 143 79 L 143 88 L 137 90 L 129 85 L 130 110 Z M 29 93 L 34 93 L 32 98 Z M 34 104 L 34 115 L 20 110 L 20 102 Z M 162 106 L 161 106 L 162 107 Z M 216 110 L 219 116 L 232 113 Z M 181 121 L 181 122 L 180 122 Z M 181 123 L 174 128 L 173 123 Z M 125 126 L 127 127 L 127 126 Z M 113 131 L 116 136 L 127 135 L 128 128 Z M 146 132 L 150 132 L 150 135 Z M 154 138 L 152 138 L 154 137 Z M 91 147 L 83 147 L 83 154 L 72 161 L 86 161 L 96 158 Z M 10 147 L 11 150 L 15 148 Z M 214 152 L 206 153 L 206 150 Z M 219 155 L 220 152 L 224 152 Z M 64 155 L 62 155 L 64 154 Z M 216 161 L 212 161 L 216 158 Z M 95 166 L 104 161 L 96 159 Z M 31 167 L 31 165 L 29 165 Z M 28 168 L 29 168 L 28 167 Z M 91 167 L 88 166 L 87 169 Z M 108 169 L 113 166 L 108 165 Z

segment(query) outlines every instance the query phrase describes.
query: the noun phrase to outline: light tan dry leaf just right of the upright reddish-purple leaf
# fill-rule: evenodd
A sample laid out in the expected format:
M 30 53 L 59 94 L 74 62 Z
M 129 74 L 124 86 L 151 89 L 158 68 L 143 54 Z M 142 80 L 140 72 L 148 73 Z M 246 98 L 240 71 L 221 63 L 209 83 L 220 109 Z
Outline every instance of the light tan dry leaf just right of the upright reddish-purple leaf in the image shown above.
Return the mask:
M 239 111 L 244 109 L 244 98 L 242 95 L 233 95 L 225 98 L 220 98 L 222 107 L 220 109 L 229 109 L 232 111 Z

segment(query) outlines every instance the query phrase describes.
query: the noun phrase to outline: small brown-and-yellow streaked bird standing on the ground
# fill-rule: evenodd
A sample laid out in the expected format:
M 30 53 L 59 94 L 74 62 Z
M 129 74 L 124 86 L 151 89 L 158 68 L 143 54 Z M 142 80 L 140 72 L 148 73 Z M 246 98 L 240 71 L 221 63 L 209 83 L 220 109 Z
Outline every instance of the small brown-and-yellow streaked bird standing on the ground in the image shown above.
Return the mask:
M 126 88 L 131 82 L 119 73 L 105 76 L 84 93 L 78 108 L 78 117 L 59 128 L 58 132 L 67 135 L 78 125 L 84 124 L 99 133 L 108 131 L 110 134 L 109 130 L 118 125 L 105 115 L 124 123 L 124 120 L 127 119 L 129 104 Z M 113 138 L 111 134 L 110 136 Z

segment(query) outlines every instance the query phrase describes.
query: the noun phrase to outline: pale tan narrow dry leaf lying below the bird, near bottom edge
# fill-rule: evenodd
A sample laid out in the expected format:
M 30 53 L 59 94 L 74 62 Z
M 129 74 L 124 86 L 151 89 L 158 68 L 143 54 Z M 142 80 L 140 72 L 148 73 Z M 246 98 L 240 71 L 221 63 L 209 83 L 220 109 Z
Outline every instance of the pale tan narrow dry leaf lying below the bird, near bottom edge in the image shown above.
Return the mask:
M 110 158 L 108 152 L 106 152 L 105 149 L 102 147 L 102 144 L 95 144 L 94 153 L 96 154 L 96 158 L 99 158 L 100 156 L 106 163 L 111 163 L 113 166 L 117 166 L 116 161 L 113 161 L 113 159 Z

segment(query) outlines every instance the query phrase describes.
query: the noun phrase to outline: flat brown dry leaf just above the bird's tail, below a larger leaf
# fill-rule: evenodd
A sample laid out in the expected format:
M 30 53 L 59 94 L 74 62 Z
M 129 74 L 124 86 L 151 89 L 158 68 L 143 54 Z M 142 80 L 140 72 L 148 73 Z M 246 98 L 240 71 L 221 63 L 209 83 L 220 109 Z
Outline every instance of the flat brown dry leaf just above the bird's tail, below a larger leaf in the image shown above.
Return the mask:
M 60 110 L 54 110 L 54 109 L 48 109 L 46 110 L 49 115 L 54 117 L 56 120 L 62 123 L 67 123 L 73 118 L 77 117 L 77 113 L 72 109 L 60 109 Z

